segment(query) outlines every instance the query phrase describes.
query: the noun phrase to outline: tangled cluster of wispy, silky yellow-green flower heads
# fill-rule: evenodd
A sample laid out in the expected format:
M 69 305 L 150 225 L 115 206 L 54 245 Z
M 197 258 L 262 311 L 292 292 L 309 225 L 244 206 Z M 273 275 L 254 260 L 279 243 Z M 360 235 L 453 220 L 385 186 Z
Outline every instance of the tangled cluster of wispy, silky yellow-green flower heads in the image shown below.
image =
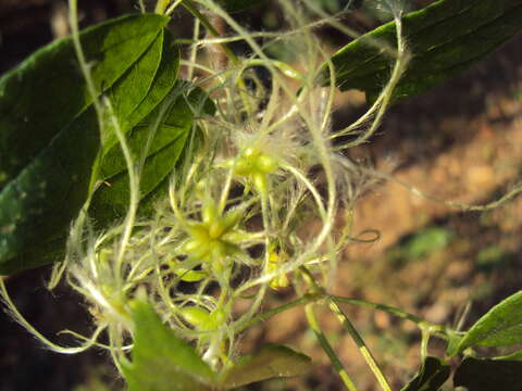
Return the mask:
M 216 2 L 202 2 L 235 34 L 196 40 L 191 61 L 182 62 L 192 79 L 176 93 L 187 97 L 196 121 L 156 213 L 139 215 L 138 197 L 130 197 L 122 224 L 95 236 L 84 216 L 70 240 L 67 280 L 86 297 L 97 324 L 86 346 L 99 344 L 107 330 L 116 365 L 132 335 L 128 303 L 137 291 L 219 369 L 233 360 L 238 333 L 271 289 L 299 291 L 302 267 L 327 279 L 350 238 L 348 222 L 336 222 L 349 213 L 361 182 L 335 139 L 349 133 L 368 137 L 387 102 L 380 98 L 353 128 L 331 129 L 335 80 L 318 84 L 320 73 L 327 73 L 321 65 L 327 55 L 313 35 L 322 22 L 308 20 L 325 16 L 313 1 L 281 1 L 293 29 L 275 38 L 251 34 Z M 295 48 L 299 70 L 265 54 L 263 45 L 273 39 Z M 228 59 L 226 70 L 198 62 L 209 46 L 234 40 L 246 42 L 250 54 Z M 269 76 L 261 77 L 259 68 Z M 216 115 L 188 99 L 199 86 L 211 91 Z M 139 194 L 139 175 L 127 163 L 135 173 L 130 193 Z M 303 234 L 309 229 L 313 235 Z M 246 300 L 248 310 L 239 312 Z

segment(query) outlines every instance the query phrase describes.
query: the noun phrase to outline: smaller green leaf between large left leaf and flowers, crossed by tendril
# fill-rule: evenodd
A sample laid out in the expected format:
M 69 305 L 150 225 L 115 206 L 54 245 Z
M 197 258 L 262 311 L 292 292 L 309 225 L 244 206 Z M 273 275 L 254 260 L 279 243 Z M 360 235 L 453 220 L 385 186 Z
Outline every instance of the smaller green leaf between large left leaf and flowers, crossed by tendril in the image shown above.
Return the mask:
M 141 212 L 152 206 L 152 194 L 161 190 L 164 190 L 163 195 L 166 194 L 169 175 L 182 155 L 195 115 L 214 113 L 214 105 L 203 90 L 194 89 L 188 93 L 188 88 L 186 84 L 178 83 L 163 102 L 166 110 L 157 108 L 128 134 L 128 147 L 138 162 L 150 131 L 159 121 L 140 176 L 140 200 L 146 201 L 140 205 Z M 104 226 L 123 217 L 129 204 L 129 177 L 119 144 L 107 152 L 100 173 L 103 184 L 92 197 L 90 214 L 99 225 Z

